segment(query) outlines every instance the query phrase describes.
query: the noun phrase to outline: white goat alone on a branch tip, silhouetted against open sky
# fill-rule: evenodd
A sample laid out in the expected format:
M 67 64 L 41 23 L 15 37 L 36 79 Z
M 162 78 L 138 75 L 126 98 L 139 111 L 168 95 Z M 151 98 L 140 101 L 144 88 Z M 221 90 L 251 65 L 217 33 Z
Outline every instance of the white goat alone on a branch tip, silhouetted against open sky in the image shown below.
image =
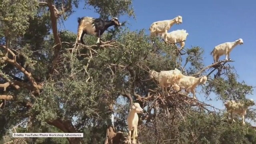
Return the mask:
M 210 55 L 213 56 L 214 63 L 218 62 L 220 59 L 220 56 L 226 54 L 226 60 L 230 59 L 230 52 L 235 48 L 238 44 L 242 45 L 244 44 L 242 38 L 239 38 L 238 40 L 234 42 L 225 42 L 223 44 L 219 44 L 218 46 L 215 46 Z

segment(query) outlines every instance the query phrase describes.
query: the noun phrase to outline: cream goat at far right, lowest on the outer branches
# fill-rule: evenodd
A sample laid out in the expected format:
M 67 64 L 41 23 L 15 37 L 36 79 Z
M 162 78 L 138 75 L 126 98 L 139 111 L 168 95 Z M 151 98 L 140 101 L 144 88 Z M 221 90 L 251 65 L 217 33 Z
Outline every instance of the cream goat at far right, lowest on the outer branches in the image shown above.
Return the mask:
M 225 102 L 224 106 L 226 107 L 227 111 L 230 112 L 230 116 L 234 122 L 236 122 L 233 118 L 233 114 L 239 114 L 242 116 L 242 124 L 244 122 L 244 115 L 246 114 L 246 110 L 249 106 L 253 106 L 255 104 L 253 99 L 245 100 L 244 102 L 236 102 L 234 100 L 230 100 Z

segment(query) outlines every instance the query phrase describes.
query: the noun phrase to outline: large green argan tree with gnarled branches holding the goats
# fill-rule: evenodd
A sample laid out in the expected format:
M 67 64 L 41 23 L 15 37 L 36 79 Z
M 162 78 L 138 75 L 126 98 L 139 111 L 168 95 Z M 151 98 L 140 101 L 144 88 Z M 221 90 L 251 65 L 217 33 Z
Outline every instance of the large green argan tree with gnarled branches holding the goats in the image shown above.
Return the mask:
M 76 34 L 58 26 L 78 4 L 78 0 L 0 2 L 0 136 L 25 121 L 26 128 L 15 130 L 83 132 L 84 138 L 12 138 L 13 142 L 126 143 L 126 118 L 133 101 L 146 114 L 140 115 L 138 126 L 137 141 L 143 144 L 254 141 L 255 133 L 248 133 L 240 122 L 229 122 L 225 112 L 210 102 L 193 100 L 172 88 L 164 95 L 157 81 L 148 77 L 151 69 L 175 67 L 184 75 L 207 75 L 200 95 L 209 101 L 212 92 L 217 100 L 245 100 L 253 87 L 238 82 L 232 61 L 204 66 L 200 46 L 180 52 L 145 30 L 129 31 L 124 23 L 103 34 L 105 44 L 98 46 L 94 36 L 85 36 L 86 45 L 74 46 Z M 84 5 L 106 20 L 135 18 L 131 0 L 85 0 Z M 114 127 L 109 124 L 112 112 Z M 248 110 L 246 118 L 254 120 L 254 111 Z

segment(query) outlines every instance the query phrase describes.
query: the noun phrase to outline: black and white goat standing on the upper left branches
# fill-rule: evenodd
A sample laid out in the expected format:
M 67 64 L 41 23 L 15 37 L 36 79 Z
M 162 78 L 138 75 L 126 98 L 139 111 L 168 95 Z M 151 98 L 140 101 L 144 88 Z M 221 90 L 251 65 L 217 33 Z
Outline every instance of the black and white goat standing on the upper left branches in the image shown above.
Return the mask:
M 100 43 L 100 36 L 110 26 L 121 26 L 117 18 L 112 18 L 110 21 L 102 20 L 101 18 L 82 17 L 78 18 L 77 41 L 84 44 L 84 34 L 90 34 L 98 37 L 97 44 Z

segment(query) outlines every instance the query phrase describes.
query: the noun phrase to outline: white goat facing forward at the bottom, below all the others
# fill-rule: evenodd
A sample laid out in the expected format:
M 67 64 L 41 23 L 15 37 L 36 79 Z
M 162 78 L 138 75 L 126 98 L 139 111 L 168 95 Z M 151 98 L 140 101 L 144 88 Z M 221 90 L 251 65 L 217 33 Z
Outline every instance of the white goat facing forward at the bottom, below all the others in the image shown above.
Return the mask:
M 131 144 L 131 135 L 132 135 L 132 143 L 135 144 L 136 140 L 135 137 L 138 137 L 138 121 L 139 117 L 137 113 L 143 113 L 143 108 L 140 107 L 139 103 L 133 103 L 130 106 L 130 112 L 127 117 L 127 122 L 128 122 L 128 130 L 129 130 L 129 141 L 128 144 Z M 132 132 L 133 129 L 133 132 Z

